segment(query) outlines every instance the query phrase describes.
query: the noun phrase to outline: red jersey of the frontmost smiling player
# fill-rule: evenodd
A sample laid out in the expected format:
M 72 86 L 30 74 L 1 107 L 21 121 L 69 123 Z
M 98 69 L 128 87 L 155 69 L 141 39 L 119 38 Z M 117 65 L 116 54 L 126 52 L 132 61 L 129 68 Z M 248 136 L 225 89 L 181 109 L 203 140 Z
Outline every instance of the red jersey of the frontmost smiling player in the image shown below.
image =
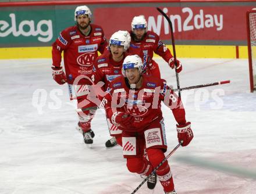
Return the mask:
M 130 89 L 126 78 L 115 78 L 103 100 L 109 118 L 115 112 L 135 117 L 133 127 L 121 130 L 143 131 L 152 121 L 162 118 L 161 102 L 170 107 L 178 124 L 186 124 L 185 110 L 179 97 L 166 85 L 165 80 L 143 75 L 140 89 Z

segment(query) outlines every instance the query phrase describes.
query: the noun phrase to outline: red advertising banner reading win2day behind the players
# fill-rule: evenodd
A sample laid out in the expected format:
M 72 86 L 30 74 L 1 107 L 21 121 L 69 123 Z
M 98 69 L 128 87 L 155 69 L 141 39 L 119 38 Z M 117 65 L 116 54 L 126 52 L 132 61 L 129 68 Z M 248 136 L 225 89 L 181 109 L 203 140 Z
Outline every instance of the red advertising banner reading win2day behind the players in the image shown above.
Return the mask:
M 162 7 L 170 17 L 175 39 L 183 41 L 246 41 L 246 11 L 251 6 Z M 111 14 L 110 14 L 111 13 Z M 108 15 L 108 17 L 106 17 Z M 130 30 L 133 16 L 144 15 L 148 30 L 170 39 L 169 24 L 155 8 L 97 8 L 95 22 L 106 37 L 116 30 Z

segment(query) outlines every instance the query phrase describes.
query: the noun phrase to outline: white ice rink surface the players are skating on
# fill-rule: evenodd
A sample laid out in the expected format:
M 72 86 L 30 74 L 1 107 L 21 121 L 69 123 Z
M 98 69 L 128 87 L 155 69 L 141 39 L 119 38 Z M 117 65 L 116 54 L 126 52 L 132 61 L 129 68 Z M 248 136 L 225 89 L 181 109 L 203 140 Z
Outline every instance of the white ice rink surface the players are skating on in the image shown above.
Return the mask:
M 180 59 L 180 86 L 230 80 L 230 84 L 182 92 L 194 139 L 170 157 L 178 194 L 254 194 L 256 180 L 182 163 L 207 159 L 256 171 L 256 93 L 249 92 L 246 59 Z M 161 59 L 162 78 L 176 88 L 173 70 Z M 51 59 L 0 60 L 0 193 L 129 194 L 143 179 L 126 169 L 122 148 L 105 149 L 105 113 L 92 122 L 93 147 L 75 130 L 76 104 L 67 85 L 51 77 Z M 176 122 L 163 105 L 168 153 L 177 145 Z M 136 193 L 163 194 L 144 184 Z

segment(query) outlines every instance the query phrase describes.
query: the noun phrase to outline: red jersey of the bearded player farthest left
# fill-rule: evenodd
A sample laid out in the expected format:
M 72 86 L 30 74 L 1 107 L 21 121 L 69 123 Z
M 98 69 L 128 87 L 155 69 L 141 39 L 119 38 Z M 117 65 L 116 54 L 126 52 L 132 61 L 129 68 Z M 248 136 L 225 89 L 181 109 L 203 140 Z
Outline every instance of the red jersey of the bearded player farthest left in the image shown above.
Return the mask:
M 69 84 L 73 84 L 77 76 L 91 78 L 98 51 L 103 53 L 108 46 L 102 28 L 95 24 L 90 26 L 91 32 L 88 36 L 83 35 L 77 26 L 68 27 L 52 44 L 52 61 L 55 67 L 61 66 L 61 53 L 64 51 L 65 72 Z M 79 83 L 91 85 L 91 81 L 87 79 Z

